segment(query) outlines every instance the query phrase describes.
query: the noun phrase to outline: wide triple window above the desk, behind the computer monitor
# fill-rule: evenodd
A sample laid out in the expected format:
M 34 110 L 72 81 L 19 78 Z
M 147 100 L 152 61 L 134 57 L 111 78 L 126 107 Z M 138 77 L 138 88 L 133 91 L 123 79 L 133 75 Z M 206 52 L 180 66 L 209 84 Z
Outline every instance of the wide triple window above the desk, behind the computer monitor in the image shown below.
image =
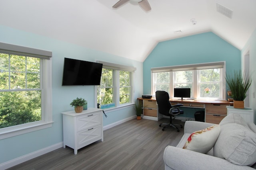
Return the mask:
M 173 97 L 174 88 L 191 88 L 191 98 L 225 100 L 225 62 L 152 68 L 152 94 L 164 90 Z

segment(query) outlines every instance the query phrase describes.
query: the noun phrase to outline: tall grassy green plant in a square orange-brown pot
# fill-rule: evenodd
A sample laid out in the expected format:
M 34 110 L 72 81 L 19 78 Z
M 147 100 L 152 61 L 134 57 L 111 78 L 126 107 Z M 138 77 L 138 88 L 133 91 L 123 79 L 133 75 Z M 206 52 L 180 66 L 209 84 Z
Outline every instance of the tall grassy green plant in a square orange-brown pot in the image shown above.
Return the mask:
M 226 82 L 232 92 L 231 97 L 234 99 L 234 108 L 244 108 L 244 99 L 246 92 L 252 84 L 252 75 L 242 74 L 241 70 L 234 70 L 231 74 L 226 74 Z

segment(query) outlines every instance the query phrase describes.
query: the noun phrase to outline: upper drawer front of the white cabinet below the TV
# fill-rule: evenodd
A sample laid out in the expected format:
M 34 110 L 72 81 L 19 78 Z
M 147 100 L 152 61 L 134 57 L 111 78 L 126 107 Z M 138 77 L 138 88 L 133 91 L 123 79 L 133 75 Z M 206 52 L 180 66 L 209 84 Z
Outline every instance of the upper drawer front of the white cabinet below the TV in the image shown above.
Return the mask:
M 77 131 L 100 125 L 101 124 L 101 112 L 95 112 L 76 117 Z

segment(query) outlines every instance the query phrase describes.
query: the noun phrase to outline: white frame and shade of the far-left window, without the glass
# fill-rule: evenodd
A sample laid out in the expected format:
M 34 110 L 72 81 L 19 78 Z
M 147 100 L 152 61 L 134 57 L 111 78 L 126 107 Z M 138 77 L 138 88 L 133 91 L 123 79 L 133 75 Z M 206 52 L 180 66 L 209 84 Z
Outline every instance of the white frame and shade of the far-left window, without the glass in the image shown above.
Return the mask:
M 1 128 L 0 140 L 52 127 L 52 52 L 0 43 L 0 53 L 40 58 L 40 83 L 42 83 L 41 121 Z

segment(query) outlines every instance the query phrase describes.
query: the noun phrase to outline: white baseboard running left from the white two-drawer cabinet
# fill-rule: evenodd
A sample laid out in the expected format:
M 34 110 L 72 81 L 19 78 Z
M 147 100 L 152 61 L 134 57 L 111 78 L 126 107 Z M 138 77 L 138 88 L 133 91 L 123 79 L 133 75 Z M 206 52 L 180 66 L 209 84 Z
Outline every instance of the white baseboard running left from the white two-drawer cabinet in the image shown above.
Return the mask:
M 24 156 L 20 156 L 18 158 L 15 158 L 13 160 L 8 161 L 8 162 L 4 162 L 4 163 L 0 164 L 0 170 L 5 170 L 5 169 L 10 168 L 12 166 L 21 164 L 22 162 L 26 162 L 27 160 L 36 158 L 38 156 L 41 156 L 41 155 L 46 154 L 48 152 L 51 152 L 53 150 L 59 149 L 61 147 L 63 147 L 63 142 L 56 143 L 56 144 L 54 144 L 50 147 L 46 147 L 44 149 L 37 150 L 35 152 L 26 154 Z

